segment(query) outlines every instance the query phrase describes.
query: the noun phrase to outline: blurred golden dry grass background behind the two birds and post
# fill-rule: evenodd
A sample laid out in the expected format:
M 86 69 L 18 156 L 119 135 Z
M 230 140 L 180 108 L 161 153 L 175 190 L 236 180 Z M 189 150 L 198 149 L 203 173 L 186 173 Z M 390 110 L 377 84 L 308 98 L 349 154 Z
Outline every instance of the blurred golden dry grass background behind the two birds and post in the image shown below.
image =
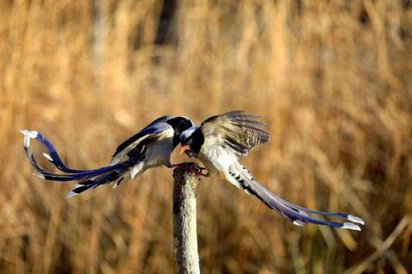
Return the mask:
M 157 116 L 233 109 L 270 127 L 244 159 L 262 184 L 367 225 L 295 227 L 204 179 L 204 273 L 412 271 L 411 1 L 181 0 L 173 43 L 155 45 L 162 5 L 0 1 L 1 273 L 174 269 L 171 171 L 66 199 L 70 184 L 32 176 L 19 129 L 89 169 Z

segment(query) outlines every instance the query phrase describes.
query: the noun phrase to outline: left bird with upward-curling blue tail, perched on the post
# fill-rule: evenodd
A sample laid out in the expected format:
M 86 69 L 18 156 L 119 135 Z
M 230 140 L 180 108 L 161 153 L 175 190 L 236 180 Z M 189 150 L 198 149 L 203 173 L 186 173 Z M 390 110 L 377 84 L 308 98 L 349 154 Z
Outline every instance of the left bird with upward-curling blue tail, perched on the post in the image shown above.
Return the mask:
M 24 134 L 24 150 L 35 170 L 34 174 L 43 179 L 58 182 L 78 181 L 79 183 L 67 195 L 67 197 L 72 197 L 102 184 L 114 182 L 113 187 L 119 186 L 121 182 L 133 179 L 152 167 L 163 165 L 172 168 L 176 166 L 170 162 L 170 154 L 179 144 L 181 132 L 192 126 L 192 121 L 187 117 L 163 116 L 122 142 L 108 166 L 89 170 L 67 168 L 52 143 L 43 134 L 27 129 L 21 130 L 21 133 Z M 38 165 L 30 150 L 30 139 L 37 140 L 47 149 L 47 153 L 43 155 L 63 174 L 51 173 Z

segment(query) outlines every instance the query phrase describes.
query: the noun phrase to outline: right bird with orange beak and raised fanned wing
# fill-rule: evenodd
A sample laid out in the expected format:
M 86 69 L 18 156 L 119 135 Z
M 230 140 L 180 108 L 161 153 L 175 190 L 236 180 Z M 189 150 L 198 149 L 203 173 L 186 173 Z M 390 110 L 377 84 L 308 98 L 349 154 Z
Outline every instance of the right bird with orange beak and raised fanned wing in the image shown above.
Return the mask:
M 198 175 L 209 177 L 216 175 L 243 189 L 247 194 L 254 195 L 268 208 L 275 210 L 284 218 L 298 226 L 306 223 L 326 225 L 328 227 L 361 230 L 356 223 L 365 222 L 351 214 L 321 212 L 297 206 L 290 201 L 262 186 L 251 175 L 239 160 L 246 156 L 257 145 L 269 140 L 266 124 L 258 121 L 258 115 L 244 114 L 243 110 L 233 110 L 207 118 L 201 125 L 185 129 L 180 136 L 179 153 L 186 153 L 190 158 L 198 158 L 207 174 Z M 347 222 L 325 221 L 316 219 L 310 214 L 346 219 Z

